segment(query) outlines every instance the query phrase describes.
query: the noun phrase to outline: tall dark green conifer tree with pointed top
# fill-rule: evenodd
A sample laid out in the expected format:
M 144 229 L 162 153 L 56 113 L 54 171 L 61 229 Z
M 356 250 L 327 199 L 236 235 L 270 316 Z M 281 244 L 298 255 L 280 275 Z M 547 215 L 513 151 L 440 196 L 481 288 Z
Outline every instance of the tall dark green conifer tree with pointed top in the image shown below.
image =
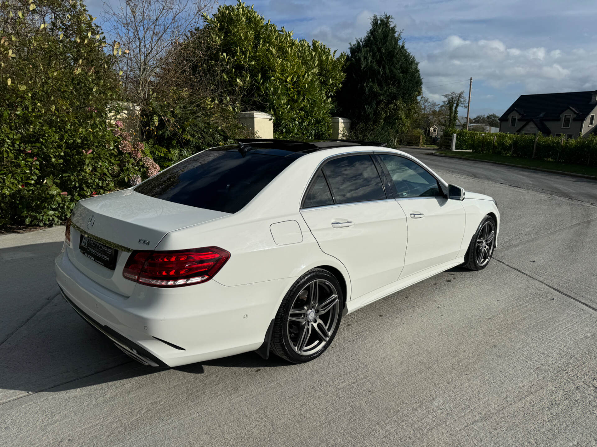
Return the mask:
M 374 15 L 364 38 L 350 45 L 338 111 L 357 125 L 404 131 L 421 93 L 418 63 L 391 15 Z

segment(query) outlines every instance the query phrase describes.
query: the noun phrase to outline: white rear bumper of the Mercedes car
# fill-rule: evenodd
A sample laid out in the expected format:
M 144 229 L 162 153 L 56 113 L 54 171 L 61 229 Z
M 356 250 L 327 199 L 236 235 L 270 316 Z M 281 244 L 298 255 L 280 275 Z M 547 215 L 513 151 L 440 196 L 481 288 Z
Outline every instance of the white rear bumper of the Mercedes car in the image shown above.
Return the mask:
M 65 252 L 55 266 L 64 298 L 82 318 L 137 361 L 164 367 L 258 349 L 294 282 L 227 287 L 211 280 L 172 289 L 137 284 L 126 297 L 88 278 Z

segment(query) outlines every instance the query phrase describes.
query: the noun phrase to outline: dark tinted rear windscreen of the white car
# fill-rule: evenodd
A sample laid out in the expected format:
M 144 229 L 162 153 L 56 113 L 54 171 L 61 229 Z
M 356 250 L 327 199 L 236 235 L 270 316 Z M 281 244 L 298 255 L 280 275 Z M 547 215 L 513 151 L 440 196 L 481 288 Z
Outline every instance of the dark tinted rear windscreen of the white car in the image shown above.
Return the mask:
M 238 150 L 207 150 L 159 173 L 135 188 L 183 205 L 226 213 L 244 207 L 294 160 Z

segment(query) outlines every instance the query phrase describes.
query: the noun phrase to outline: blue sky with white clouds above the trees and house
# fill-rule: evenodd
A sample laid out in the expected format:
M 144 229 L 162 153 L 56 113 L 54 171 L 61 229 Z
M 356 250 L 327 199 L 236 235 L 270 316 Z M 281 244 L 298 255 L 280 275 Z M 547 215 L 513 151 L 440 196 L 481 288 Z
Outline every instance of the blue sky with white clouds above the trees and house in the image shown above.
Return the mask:
M 118 2 L 119 0 L 108 0 Z M 235 3 L 235 1 L 226 1 Z M 89 0 L 93 15 L 101 0 Z M 524 94 L 597 89 L 595 0 L 254 0 L 266 20 L 348 51 L 374 14 L 393 16 L 416 57 L 423 94 L 468 94 L 470 115 L 501 115 Z M 100 20 L 101 21 L 101 20 Z M 460 110 L 466 114 L 466 109 Z

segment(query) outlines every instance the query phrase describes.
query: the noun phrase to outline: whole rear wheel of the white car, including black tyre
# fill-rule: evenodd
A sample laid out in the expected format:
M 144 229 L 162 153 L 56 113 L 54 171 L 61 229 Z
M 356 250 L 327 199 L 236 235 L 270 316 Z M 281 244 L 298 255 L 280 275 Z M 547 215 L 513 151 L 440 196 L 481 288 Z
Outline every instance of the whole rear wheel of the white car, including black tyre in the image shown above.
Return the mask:
M 282 300 L 270 349 L 293 363 L 318 358 L 336 336 L 343 307 L 342 289 L 334 275 L 324 269 L 307 272 Z

